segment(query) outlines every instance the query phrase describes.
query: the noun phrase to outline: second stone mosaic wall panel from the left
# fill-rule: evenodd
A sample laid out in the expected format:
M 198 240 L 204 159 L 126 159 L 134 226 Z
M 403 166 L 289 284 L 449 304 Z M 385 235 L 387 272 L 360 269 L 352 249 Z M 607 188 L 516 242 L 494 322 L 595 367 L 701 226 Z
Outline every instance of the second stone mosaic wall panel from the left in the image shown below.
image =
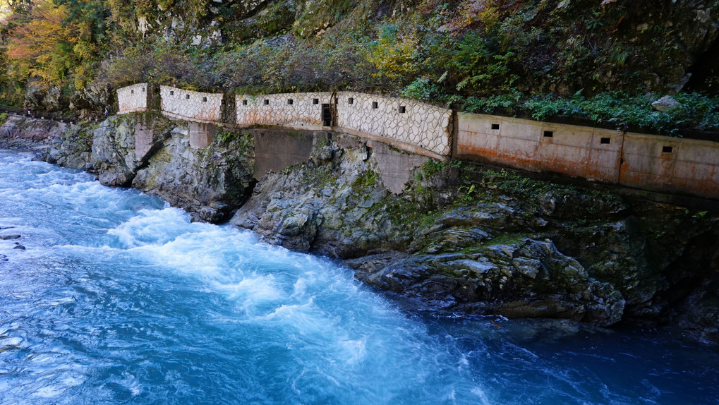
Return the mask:
M 201 93 L 170 86 L 160 86 L 162 112 L 170 117 L 200 122 L 219 122 L 222 94 Z

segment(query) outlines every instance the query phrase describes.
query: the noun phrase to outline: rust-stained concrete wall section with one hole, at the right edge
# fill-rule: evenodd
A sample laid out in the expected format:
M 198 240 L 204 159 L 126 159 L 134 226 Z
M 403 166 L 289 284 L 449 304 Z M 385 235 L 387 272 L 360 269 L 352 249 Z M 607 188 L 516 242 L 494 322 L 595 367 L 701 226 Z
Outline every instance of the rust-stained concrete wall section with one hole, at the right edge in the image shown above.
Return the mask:
M 719 143 L 627 133 L 619 183 L 719 199 Z

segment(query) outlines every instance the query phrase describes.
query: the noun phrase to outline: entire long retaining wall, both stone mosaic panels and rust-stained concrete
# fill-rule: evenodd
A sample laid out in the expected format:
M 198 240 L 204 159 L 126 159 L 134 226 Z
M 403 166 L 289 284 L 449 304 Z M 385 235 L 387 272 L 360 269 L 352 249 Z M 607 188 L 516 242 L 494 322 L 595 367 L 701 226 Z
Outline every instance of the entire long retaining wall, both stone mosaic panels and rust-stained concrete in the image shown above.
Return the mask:
M 118 89 L 120 114 L 147 110 L 149 91 L 147 83 Z M 203 123 L 223 118 L 222 94 L 161 86 L 160 99 L 162 113 L 168 117 Z M 236 114 L 226 111 L 224 118 L 227 121 L 232 116 L 237 122 L 230 124 L 238 127 L 271 125 L 308 131 L 331 127 L 335 132 L 433 158 L 451 155 L 590 181 L 719 198 L 719 142 L 460 113 L 454 122 L 453 145 L 452 111 L 407 99 L 340 92 L 236 96 L 231 101 L 236 104 Z M 198 126 L 193 147 L 208 145 L 214 132 L 214 127 Z M 279 142 L 274 138 L 269 143 L 257 141 L 260 149 Z M 288 162 L 307 155 L 307 140 L 300 143 L 302 147 L 285 145 L 301 150 L 290 153 Z M 269 162 L 270 150 L 266 152 Z M 275 165 L 267 163 L 262 170 L 275 170 Z

